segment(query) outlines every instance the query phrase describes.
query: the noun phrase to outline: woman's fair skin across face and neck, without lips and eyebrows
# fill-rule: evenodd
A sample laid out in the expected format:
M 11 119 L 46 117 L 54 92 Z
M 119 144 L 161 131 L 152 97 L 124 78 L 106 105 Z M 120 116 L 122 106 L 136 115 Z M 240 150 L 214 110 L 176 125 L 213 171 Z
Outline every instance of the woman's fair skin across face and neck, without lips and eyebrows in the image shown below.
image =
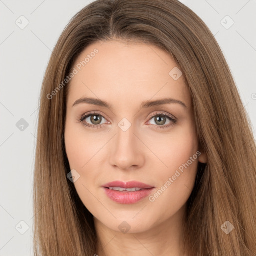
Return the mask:
M 162 49 L 123 40 L 91 44 L 74 67 L 95 48 L 99 52 L 69 84 L 64 137 L 70 169 L 80 175 L 74 186 L 94 216 L 100 241 L 97 254 L 185 255 L 181 247 L 183 217 L 198 161 L 207 161 L 203 152 L 153 202 L 146 197 L 134 204 L 119 204 L 101 187 L 114 180 L 136 180 L 154 186 L 153 195 L 196 154 L 199 148 L 192 101 L 184 77 L 174 80 L 169 75 L 177 65 Z M 85 96 L 105 100 L 112 109 L 88 103 L 72 106 Z M 165 97 L 180 100 L 187 107 L 171 103 L 140 108 L 142 101 Z M 83 125 L 99 125 L 93 116 L 83 123 L 78 121 L 91 111 L 101 115 L 101 127 Z M 149 116 L 159 111 L 177 122 L 166 117 L 161 125 L 161 119 Z M 131 124 L 125 132 L 118 126 L 123 118 Z M 168 124 L 173 125 L 160 128 Z M 126 233 L 118 228 L 123 221 L 130 226 Z

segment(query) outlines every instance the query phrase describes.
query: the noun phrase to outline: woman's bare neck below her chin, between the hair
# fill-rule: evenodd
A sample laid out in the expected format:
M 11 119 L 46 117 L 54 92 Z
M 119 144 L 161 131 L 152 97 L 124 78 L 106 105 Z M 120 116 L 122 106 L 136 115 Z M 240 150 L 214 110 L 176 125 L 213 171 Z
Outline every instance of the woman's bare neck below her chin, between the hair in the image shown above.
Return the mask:
M 183 252 L 184 205 L 169 219 L 136 233 L 122 233 L 108 228 L 94 218 L 98 237 L 97 255 L 185 256 Z

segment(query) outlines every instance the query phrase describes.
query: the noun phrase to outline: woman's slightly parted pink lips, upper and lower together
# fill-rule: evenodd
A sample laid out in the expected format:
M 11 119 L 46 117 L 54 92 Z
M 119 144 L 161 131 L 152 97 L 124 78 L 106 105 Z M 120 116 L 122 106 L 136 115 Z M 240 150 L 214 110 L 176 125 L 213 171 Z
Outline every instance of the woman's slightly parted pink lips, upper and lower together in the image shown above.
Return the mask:
M 143 190 L 139 191 L 116 191 L 109 189 L 109 187 L 123 187 L 123 188 L 133 188 L 139 187 L 143 188 Z M 151 185 L 147 185 L 138 181 L 129 181 L 129 182 L 122 182 L 122 181 L 113 181 L 107 184 L 104 184 L 103 189 L 105 190 L 106 195 L 115 202 L 122 203 L 122 204 L 132 204 L 136 203 L 139 200 L 148 196 L 151 191 L 155 188 Z

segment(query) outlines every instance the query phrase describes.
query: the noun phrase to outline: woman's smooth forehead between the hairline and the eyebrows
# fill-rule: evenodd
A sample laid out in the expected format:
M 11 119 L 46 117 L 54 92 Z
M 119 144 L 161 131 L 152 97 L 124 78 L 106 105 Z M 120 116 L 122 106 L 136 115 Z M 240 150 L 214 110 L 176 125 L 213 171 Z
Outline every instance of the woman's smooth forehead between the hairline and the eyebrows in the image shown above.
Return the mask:
M 68 104 L 82 96 L 118 104 L 172 97 L 190 106 L 190 94 L 177 64 L 164 50 L 129 41 L 96 42 L 77 57 L 69 84 Z M 72 102 L 71 102 L 72 101 Z M 114 105 L 114 103 L 113 103 Z

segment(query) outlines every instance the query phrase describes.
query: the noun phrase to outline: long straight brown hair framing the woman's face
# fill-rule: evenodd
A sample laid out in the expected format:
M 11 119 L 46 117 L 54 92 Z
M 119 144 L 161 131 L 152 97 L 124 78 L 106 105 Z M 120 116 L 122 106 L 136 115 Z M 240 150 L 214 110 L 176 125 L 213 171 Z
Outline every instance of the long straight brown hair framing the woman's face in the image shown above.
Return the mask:
M 93 216 L 67 178 L 63 134 L 68 82 L 63 81 L 86 46 L 113 38 L 164 49 L 190 90 L 200 150 L 208 162 L 198 164 L 188 201 L 186 253 L 256 255 L 256 148 L 251 123 L 213 34 L 177 0 L 97 0 L 80 10 L 62 32 L 40 94 L 33 187 L 35 255 L 96 253 Z M 227 234 L 224 230 L 231 225 Z

